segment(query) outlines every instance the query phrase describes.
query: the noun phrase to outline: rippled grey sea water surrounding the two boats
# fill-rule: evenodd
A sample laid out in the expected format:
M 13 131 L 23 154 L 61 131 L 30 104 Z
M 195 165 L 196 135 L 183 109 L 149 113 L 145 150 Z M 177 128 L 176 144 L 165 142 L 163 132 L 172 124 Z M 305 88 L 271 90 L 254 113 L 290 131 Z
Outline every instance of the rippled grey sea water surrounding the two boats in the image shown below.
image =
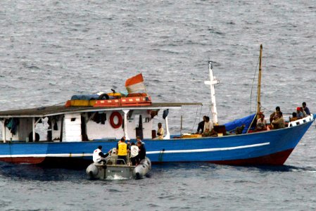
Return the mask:
M 142 72 L 170 130 L 210 115 L 213 61 L 220 123 L 262 105 L 316 111 L 316 1 L 0 1 L 1 110 L 51 106 L 73 94 L 125 90 Z M 91 181 L 84 170 L 0 163 L 0 210 L 316 210 L 315 124 L 282 167 L 155 165 L 149 177 Z

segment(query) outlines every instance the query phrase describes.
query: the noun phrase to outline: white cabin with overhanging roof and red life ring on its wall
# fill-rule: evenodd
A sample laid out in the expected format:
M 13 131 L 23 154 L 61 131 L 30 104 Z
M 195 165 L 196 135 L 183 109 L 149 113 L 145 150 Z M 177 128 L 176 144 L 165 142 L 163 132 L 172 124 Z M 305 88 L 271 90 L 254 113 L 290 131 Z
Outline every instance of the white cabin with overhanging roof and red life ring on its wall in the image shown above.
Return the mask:
M 193 103 L 153 103 L 151 106 L 120 108 L 49 106 L 0 112 L 2 140 L 6 141 L 93 141 L 106 139 L 152 139 L 153 117 L 160 110 Z M 46 137 L 38 138 L 37 124 L 46 120 Z M 8 127 L 15 123 L 15 131 Z M 165 139 L 170 139 L 165 117 Z

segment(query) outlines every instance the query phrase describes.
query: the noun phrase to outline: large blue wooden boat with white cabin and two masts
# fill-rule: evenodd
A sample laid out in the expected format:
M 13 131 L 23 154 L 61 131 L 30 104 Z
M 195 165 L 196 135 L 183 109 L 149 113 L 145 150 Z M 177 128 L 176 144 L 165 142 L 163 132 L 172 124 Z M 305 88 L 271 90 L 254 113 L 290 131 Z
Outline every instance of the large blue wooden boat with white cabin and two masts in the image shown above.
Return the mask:
M 262 46 L 259 80 L 261 52 Z M 213 77 L 211 63 L 209 72 L 210 80 L 206 84 L 210 85 L 213 124 L 216 125 L 214 87 L 217 80 Z M 137 75 L 128 79 L 125 85 L 128 89 L 142 89 L 141 82 L 142 76 Z M 260 81 L 258 84 L 257 113 L 260 113 Z M 146 143 L 146 155 L 153 163 L 283 165 L 315 120 L 315 115 L 309 115 L 282 129 L 249 133 L 251 122 L 256 117 L 253 114 L 222 124 L 218 128 L 224 130 L 218 132 L 219 136 L 171 135 L 167 111 L 201 103 L 153 103 L 150 96 L 144 92 L 139 93 L 142 94 L 127 97 L 107 94 L 106 98 L 72 99 L 65 106 L 1 111 L 0 161 L 87 167 L 91 163 L 94 149 L 99 145 L 110 149 L 116 146 L 122 136 L 131 141 L 141 136 Z M 153 139 L 156 134 L 153 131 L 153 117 L 160 115 L 160 111 L 165 111 L 165 136 L 163 139 Z M 46 131 L 47 138 L 37 140 L 37 125 L 42 120 L 50 122 Z M 234 129 L 242 124 L 246 128 L 244 132 L 234 134 Z M 227 135 L 225 131 L 230 131 L 230 134 Z

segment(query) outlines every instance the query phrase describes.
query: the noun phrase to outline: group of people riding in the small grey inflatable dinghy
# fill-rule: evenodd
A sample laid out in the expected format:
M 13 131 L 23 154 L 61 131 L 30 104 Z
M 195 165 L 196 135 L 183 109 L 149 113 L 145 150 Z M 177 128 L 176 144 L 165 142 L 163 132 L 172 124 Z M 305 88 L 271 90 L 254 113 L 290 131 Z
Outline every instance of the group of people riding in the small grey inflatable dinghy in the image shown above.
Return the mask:
M 132 143 L 125 143 L 126 138 L 125 136 L 118 141 L 116 145 L 116 154 L 118 155 L 117 164 L 124 165 L 127 164 L 127 156 L 129 155 L 130 160 L 132 162 L 132 165 L 139 165 L 141 160 L 145 159 L 146 157 L 146 148 L 144 146 L 144 143 L 141 141 L 141 138 L 137 136 L 136 144 L 134 142 Z M 94 150 L 94 153 L 92 155 L 94 162 L 106 162 L 106 158 L 111 153 L 114 153 L 112 151 L 108 151 L 108 153 L 104 154 L 102 152 L 102 146 L 99 146 Z

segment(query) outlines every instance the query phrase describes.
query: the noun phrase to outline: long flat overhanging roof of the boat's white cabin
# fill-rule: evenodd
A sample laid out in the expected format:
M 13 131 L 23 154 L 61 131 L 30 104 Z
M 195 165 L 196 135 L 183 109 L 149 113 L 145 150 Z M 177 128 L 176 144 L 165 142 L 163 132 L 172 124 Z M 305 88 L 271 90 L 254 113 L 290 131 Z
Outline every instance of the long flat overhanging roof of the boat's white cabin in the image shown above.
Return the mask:
M 26 108 L 18 110 L 0 111 L 0 117 L 46 117 L 66 113 L 83 113 L 104 110 L 148 110 L 181 108 L 182 106 L 202 106 L 202 103 L 152 103 L 151 106 L 125 106 L 125 107 L 89 107 L 89 106 L 45 106 L 39 108 Z

